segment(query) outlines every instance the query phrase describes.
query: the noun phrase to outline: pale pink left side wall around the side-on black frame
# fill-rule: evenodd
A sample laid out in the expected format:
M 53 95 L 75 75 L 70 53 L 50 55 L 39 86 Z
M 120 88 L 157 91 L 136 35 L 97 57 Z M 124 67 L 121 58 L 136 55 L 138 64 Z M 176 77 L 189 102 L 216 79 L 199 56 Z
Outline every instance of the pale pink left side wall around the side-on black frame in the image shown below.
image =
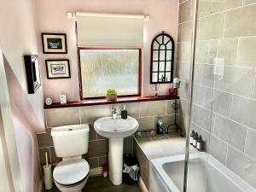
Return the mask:
M 42 186 L 38 170 L 36 132 L 44 131 L 43 89 L 28 95 L 23 55 L 38 54 L 33 0 L 0 0 L 0 46 L 5 56 L 9 101 L 24 191 Z M 1 90 L 8 91 L 8 90 Z

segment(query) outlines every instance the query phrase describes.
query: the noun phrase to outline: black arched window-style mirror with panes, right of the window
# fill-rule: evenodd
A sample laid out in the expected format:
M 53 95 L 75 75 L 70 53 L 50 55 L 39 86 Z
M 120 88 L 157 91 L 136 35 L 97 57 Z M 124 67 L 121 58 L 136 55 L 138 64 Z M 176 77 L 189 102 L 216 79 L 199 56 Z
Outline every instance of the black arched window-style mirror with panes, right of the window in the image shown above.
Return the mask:
M 151 84 L 168 84 L 173 79 L 174 41 L 165 32 L 157 35 L 151 44 Z

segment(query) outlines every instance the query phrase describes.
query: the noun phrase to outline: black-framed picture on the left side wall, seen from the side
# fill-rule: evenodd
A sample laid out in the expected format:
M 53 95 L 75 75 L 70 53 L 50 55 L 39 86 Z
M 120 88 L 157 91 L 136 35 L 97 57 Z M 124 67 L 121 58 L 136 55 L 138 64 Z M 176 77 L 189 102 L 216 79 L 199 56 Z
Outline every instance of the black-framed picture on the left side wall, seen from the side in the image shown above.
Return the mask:
M 38 55 L 24 55 L 27 91 L 34 94 L 41 86 Z

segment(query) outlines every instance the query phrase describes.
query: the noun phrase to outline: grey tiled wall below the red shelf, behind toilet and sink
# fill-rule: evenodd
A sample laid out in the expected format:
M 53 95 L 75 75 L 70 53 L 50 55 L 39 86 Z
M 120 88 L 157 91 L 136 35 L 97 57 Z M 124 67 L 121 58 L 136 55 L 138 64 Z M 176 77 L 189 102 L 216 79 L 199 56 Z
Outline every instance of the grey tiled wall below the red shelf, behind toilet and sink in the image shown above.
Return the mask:
M 174 122 L 174 101 L 131 102 L 124 103 L 128 115 L 139 122 L 139 130 L 155 129 L 158 116 L 163 116 L 165 127 Z M 44 154 L 49 155 L 49 162 L 58 163 L 61 159 L 55 156 L 55 150 L 50 137 L 52 127 L 60 125 L 89 124 L 90 142 L 87 154 L 90 168 L 100 167 L 108 162 L 108 138 L 99 136 L 94 131 L 93 123 L 97 118 L 111 116 L 111 109 L 116 108 L 120 114 L 123 104 L 87 106 L 77 108 L 55 108 L 45 110 L 46 132 L 38 134 L 38 152 L 41 166 L 45 164 Z M 124 142 L 124 153 L 133 152 L 133 138 L 127 137 Z

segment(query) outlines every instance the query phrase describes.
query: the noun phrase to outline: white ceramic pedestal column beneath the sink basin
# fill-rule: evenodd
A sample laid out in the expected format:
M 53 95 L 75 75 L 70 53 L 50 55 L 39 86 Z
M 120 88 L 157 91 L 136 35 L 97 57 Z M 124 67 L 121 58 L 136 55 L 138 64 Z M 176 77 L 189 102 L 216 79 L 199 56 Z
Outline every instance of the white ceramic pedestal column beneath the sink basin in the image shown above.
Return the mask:
M 109 179 L 114 185 L 122 183 L 124 138 L 109 138 Z

